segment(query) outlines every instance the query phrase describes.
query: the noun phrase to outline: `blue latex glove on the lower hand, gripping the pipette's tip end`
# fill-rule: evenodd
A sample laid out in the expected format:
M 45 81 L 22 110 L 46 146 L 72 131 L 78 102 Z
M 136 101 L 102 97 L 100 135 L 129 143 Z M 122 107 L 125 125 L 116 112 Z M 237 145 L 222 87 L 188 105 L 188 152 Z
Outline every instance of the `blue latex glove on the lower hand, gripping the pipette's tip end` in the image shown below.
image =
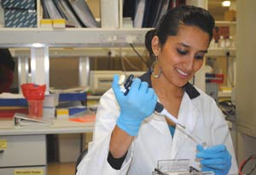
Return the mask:
M 197 150 L 199 152 L 196 157 L 201 158 L 202 172 L 214 172 L 218 175 L 228 174 L 232 156 L 224 144 L 218 144 L 206 150 L 203 149 L 201 144 L 198 144 Z

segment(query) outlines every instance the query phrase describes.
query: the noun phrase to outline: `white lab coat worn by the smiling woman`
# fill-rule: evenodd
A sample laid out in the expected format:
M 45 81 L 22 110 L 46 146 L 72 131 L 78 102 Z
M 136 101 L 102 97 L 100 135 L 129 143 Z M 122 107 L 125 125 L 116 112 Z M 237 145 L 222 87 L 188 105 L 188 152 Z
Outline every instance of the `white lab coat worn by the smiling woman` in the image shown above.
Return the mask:
M 238 174 L 236 157 L 230 131 L 222 112 L 206 93 L 189 99 L 184 93 L 178 121 L 205 140 L 208 146 L 225 144 L 232 155 L 229 174 Z M 120 170 L 113 169 L 107 161 L 110 135 L 119 116 L 119 104 L 113 90 L 105 93 L 96 114 L 96 127 L 88 154 L 79 163 L 77 175 L 151 175 L 158 160 L 189 159 L 190 166 L 201 169 L 195 159 L 196 143 L 178 127 L 170 133 L 165 117 L 152 114 L 143 121 Z

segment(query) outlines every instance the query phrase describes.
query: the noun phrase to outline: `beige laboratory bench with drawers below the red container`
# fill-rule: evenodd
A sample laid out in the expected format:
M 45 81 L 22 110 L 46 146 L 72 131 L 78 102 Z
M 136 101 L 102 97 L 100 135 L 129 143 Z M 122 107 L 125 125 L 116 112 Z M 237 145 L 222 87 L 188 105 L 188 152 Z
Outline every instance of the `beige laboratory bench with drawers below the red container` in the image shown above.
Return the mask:
M 94 123 L 54 119 L 51 126 L 15 126 L 0 119 L 0 174 L 47 175 L 47 134 L 92 133 Z

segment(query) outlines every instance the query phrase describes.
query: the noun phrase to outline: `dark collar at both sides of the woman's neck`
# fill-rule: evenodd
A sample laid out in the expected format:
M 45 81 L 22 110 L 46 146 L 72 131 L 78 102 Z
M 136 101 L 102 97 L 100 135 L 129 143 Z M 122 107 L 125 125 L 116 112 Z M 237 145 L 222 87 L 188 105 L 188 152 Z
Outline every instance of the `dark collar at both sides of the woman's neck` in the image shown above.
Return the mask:
M 142 76 L 139 76 L 139 78 L 143 82 L 148 82 L 148 87 L 152 88 L 150 76 L 151 76 L 151 71 L 148 70 Z M 190 99 L 195 99 L 196 97 L 198 97 L 200 95 L 200 93 L 196 90 L 196 88 L 189 82 L 187 82 L 187 84 L 184 85 L 184 88 L 185 88 L 185 92 L 188 93 Z

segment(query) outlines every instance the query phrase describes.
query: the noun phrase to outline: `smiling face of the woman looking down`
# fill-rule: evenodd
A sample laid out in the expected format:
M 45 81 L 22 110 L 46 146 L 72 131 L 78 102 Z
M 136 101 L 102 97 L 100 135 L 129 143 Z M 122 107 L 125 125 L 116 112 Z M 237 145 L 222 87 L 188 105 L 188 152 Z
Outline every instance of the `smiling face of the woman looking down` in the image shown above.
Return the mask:
M 162 48 L 158 39 L 152 40 L 154 54 L 158 57 L 156 69 L 162 69 L 162 76 L 168 82 L 183 87 L 203 64 L 209 45 L 207 32 L 196 26 L 180 25 L 177 36 L 167 37 Z

